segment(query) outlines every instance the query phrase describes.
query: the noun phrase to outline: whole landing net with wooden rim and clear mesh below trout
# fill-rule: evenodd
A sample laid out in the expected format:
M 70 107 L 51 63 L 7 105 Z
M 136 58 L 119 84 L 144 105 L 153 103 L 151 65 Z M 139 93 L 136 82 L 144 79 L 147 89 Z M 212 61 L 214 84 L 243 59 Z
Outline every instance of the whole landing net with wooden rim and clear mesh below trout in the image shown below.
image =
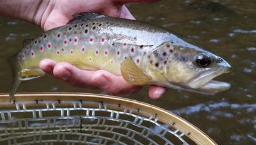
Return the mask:
M 0 95 L 0 144 L 216 144 L 161 108 L 84 93 Z

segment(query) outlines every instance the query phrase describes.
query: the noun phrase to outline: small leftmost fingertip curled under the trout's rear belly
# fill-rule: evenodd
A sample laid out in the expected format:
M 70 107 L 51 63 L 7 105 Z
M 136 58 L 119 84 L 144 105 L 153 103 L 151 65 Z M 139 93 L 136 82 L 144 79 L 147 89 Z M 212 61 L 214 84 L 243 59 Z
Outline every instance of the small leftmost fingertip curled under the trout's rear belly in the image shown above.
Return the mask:
M 54 66 L 57 62 L 53 61 L 52 59 L 44 59 L 40 61 L 39 67 L 47 74 L 52 75 L 52 71 L 54 70 Z

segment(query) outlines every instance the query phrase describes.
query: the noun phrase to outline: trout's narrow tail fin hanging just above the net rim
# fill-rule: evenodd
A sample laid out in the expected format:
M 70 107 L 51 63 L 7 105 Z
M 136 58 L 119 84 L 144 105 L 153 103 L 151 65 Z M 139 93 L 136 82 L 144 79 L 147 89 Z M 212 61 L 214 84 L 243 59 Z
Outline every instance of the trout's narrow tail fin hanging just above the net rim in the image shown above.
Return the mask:
M 9 92 L 9 96 L 11 99 L 15 96 L 16 90 L 18 86 L 20 86 L 21 80 L 19 78 L 18 72 L 20 71 L 19 63 L 16 61 L 17 54 L 9 57 L 7 59 L 9 67 L 11 68 L 11 72 L 13 74 L 13 84 L 11 87 L 11 91 Z

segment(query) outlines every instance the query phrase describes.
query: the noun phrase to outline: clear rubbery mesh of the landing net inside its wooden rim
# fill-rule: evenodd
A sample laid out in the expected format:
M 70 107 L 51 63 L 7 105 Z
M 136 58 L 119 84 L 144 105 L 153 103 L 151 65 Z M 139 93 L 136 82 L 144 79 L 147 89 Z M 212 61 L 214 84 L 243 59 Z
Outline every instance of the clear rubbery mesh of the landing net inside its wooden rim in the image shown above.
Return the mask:
M 154 112 L 122 103 L 34 100 L 12 106 L 0 110 L 0 144 L 195 144 L 175 122 L 167 125 Z

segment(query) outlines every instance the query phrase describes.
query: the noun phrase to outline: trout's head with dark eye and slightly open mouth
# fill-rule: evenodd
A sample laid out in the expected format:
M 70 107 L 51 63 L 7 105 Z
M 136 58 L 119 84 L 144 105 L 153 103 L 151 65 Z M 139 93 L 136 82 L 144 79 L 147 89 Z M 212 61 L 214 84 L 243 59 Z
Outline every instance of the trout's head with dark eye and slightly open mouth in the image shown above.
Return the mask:
M 165 46 L 160 47 L 158 51 L 169 52 L 163 66 L 163 75 L 168 83 L 206 94 L 230 88 L 229 83 L 212 81 L 217 76 L 231 71 L 230 64 L 221 57 L 193 45 Z

